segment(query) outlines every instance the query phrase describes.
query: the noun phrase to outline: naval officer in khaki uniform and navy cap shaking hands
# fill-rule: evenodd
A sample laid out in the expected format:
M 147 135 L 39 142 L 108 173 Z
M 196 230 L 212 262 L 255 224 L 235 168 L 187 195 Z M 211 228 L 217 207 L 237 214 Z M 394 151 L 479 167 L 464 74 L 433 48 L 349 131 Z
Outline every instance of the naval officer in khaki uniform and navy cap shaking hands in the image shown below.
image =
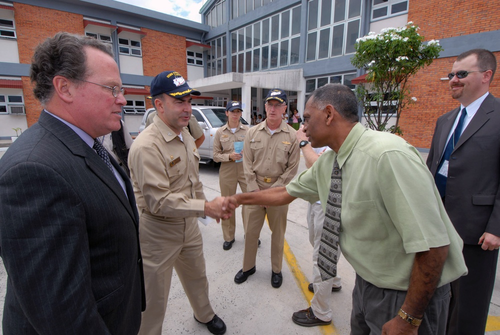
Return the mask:
M 161 334 L 173 267 L 194 318 L 213 334 L 226 330 L 208 300 L 203 242 L 196 217 L 229 215 L 222 214 L 223 198 L 206 201 L 203 194 L 198 151 L 184 128 L 191 116 L 191 94 L 200 92 L 190 88 L 178 72 L 164 71 L 155 76 L 151 95 L 158 113 L 134 140 L 128 155 L 140 214 L 147 304 L 139 334 Z

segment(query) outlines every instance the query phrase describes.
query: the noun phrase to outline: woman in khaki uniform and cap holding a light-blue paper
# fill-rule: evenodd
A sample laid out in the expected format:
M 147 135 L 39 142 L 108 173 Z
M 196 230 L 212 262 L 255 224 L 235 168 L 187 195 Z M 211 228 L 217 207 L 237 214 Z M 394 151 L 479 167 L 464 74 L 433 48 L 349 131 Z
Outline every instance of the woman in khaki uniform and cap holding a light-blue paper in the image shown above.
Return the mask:
M 236 194 L 236 187 L 246 192 L 246 179 L 243 171 L 242 147 L 238 151 L 234 145 L 243 144 L 248 126 L 239 120 L 243 109 L 238 101 L 229 101 L 225 107 L 227 123 L 217 129 L 213 138 L 213 160 L 220 161 L 219 185 L 220 195 L 227 196 Z M 236 143 L 236 144 L 234 144 Z M 243 218 L 243 231 L 246 230 L 245 206 L 241 207 Z M 234 215 L 228 220 L 222 220 L 222 235 L 224 243 L 222 248 L 229 250 L 234 243 L 234 231 L 236 230 L 236 218 Z

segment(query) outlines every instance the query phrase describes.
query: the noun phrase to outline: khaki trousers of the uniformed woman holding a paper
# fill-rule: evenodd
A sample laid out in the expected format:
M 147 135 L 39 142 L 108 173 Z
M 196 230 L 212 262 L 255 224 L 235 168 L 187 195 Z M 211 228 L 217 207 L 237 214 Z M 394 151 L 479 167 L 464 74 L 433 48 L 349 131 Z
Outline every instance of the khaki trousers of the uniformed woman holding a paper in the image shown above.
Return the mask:
M 236 187 L 239 183 L 241 192 L 246 192 L 246 179 L 243 171 L 243 162 L 236 163 L 235 161 L 224 161 L 220 164 L 219 168 L 219 185 L 220 195 L 228 196 L 236 194 Z M 246 205 L 241 206 L 241 217 L 243 219 L 243 231 L 246 232 L 246 219 L 245 219 Z M 236 217 L 231 215 L 228 220 L 222 220 L 222 235 L 224 241 L 229 242 L 234 238 L 236 231 Z

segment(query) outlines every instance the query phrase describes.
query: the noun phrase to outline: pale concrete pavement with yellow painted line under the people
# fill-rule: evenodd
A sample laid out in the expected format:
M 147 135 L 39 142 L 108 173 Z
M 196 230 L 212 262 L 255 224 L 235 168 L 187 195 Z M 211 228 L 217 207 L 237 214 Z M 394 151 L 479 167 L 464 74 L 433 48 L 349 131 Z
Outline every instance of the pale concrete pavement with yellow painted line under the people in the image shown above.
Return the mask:
M 0 151 L 1 157 L 2 151 Z M 1 161 L 0 161 L 1 163 Z M 299 171 L 305 169 L 303 158 Z M 210 165 L 200 165 L 200 179 L 208 199 L 220 195 L 218 170 Z M 239 190 L 238 190 L 239 191 Z M 256 272 L 242 284 L 233 281 L 241 268 L 243 255 L 243 228 L 240 211 L 236 211 L 236 241 L 230 250 L 222 249 L 222 231 L 215 221 L 207 226 L 199 223 L 203 235 L 203 249 L 210 288 L 210 301 L 215 312 L 225 321 L 227 334 L 349 334 L 351 292 L 354 270 L 341 257 L 338 273 L 342 289 L 331 293 L 332 324 L 321 327 L 302 327 L 291 321 L 294 311 L 309 306 L 312 297 L 307 284 L 312 277 L 312 247 L 308 241 L 305 219 L 307 203 L 296 199 L 289 205 L 283 259 L 283 284 L 280 288 L 270 285 L 270 231 L 262 228 L 262 241 L 257 252 Z M 497 270 L 498 272 L 498 270 Z M 497 273 L 498 274 L 498 273 Z M 488 335 L 500 335 L 500 275 L 493 293 L 488 318 Z M 0 266 L 0 298 L 5 295 L 6 274 Z M 0 311 L 3 303 L 0 301 Z M 1 325 L 0 325 L 1 329 Z M 207 334 L 204 325 L 197 323 L 174 272 L 162 334 Z

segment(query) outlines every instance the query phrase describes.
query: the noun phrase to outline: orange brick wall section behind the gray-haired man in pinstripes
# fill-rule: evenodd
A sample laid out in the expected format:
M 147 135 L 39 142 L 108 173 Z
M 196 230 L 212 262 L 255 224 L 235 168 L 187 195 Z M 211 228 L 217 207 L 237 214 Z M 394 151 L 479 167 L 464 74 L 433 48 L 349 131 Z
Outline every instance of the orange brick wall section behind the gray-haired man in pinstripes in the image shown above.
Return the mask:
M 83 33 L 83 16 L 65 11 L 14 2 L 15 30 L 19 62 L 30 64 L 33 50 L 45 38 L 59 31 Z M 38 120 L 41 104 L 32 94 L 29 77 L 22 77 L 26 121 L 31 126 Z

